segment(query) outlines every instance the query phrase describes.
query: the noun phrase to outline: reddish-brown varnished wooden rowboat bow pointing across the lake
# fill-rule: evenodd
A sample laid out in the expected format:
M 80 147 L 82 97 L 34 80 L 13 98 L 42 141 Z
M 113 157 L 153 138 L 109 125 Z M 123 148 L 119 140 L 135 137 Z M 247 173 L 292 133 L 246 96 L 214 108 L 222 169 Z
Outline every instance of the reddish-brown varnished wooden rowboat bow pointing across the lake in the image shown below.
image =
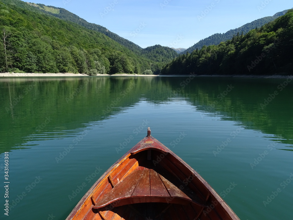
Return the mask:
M 66 220 L 238 219 L 187 163 L 147 136 L 112 165 Z

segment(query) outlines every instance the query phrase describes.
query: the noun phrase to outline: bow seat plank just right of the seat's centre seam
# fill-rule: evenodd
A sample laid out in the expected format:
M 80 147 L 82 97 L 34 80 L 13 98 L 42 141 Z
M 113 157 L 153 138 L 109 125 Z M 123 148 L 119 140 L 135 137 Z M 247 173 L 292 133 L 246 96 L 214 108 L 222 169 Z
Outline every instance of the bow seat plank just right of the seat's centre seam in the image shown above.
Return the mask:
M 158 173 L 154 171 L 153 169 L 150 169 L 149 176 L 150 176 L 151 196 L 170 197 Z

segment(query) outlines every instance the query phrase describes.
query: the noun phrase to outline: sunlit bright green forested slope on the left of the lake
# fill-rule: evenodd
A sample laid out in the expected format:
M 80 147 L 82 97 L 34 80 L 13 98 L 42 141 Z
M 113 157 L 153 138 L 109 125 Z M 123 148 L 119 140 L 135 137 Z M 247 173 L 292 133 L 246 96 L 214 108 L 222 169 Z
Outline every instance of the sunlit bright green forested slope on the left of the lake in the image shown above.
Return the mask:
M 141 74 L 158 73 L 163 65 L 103 33 L 44 14 L 23 1 L 2 0 L 0 11 L 0 72 Z

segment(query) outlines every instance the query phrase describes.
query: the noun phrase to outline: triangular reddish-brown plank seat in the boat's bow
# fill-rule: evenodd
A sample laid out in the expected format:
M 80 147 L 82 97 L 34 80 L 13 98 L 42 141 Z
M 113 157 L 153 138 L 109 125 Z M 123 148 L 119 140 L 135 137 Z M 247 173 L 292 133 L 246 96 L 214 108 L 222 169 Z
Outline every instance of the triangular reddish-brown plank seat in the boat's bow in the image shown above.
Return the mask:
M 183 187 L 183 185 L 181 186 Z M 118 207 L 145 202 L 183 205 L 192 202 L 207 207 L 200 199 L 188 196 L 180 187 L 175 186 L 155 170 L 137 167 L 127 177 L 118 182 L 104 197 L 96 201 L 93 209 L 100 209 L 109 204 L 111 204 L 111 207 Z

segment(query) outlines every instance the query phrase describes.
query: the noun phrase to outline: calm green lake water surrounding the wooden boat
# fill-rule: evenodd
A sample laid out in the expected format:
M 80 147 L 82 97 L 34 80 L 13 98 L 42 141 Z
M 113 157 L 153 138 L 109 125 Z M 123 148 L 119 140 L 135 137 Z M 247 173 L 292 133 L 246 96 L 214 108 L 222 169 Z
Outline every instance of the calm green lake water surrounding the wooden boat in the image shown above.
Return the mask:
M 293 86 L 287 81 L 0 78 L 1 219 L 66 219 L 147 127 L 241 220 L 292 219 Z

